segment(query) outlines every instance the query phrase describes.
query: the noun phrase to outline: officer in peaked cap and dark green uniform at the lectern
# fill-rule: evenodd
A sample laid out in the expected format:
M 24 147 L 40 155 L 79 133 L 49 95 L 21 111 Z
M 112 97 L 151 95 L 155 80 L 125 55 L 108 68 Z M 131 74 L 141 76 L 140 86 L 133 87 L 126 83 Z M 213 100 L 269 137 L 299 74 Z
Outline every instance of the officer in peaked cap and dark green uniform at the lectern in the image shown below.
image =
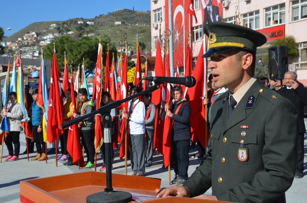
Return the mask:
M 183 186 L 161 190 L 232 202 L 286 202 L 296 169 L 298 122 L 294 105 L 255 76 L 255 53 L 266 37 L 230 23 L 204 27 L 208 68 L 229 91 L 212 105 L 208 152 Z M 276 126 L 276 122 L 279 123 Z M 212 195 L 204 195 L 212 187 Z

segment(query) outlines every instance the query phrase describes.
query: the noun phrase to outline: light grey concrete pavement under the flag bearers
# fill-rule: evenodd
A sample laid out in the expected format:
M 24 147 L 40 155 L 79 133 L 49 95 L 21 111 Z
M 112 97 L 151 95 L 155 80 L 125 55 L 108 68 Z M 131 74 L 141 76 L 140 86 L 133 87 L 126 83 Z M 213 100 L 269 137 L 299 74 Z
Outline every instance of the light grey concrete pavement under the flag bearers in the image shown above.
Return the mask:
M 307 126 L 307 119 L 305 119 L 305 124 Z M 20 151 L 25 151 L 25 135 L 24 133 L 20 134 Z M 307 133 L 305 134 L 305 149 L 307 150 Z M 51 148 L 51 145 L 48 144 L 48 148 Z M 306 152 L 305 150 L 305 152 Z M 190 155 L 195 153 L 195 149 L 190 150 Z M 286 192 L 287 202 L 306 202 L 307 199 L 307 152 L 305 153 L 304 160 L 304 177 L 303 178 L 294 178 L 293 184 L 290 189 Z M 58 167 L 55 166 L 55 155 L 48 155 L 48 163 L 45 161 L 31 161 L 31 158 L 35 157 L 35 153 L 30 154 L 30 161 L 27 161 L 27 155 L 21 154 L 19 156 L 20 160 L 14 162 L 4 162 L 4 159 L 7 157 L 8 151 L 6 145 L 4 144 L 3 148 L 3 158 L 2 163 L 0 163 L 0 203 L 2 202 L 20 202 L 19 197 L 19 182 L 22 180 L 29 180 L 33 178 L 44 178 L 55 175 L 77 173 L 94 169 L 80 169 L 76 166 L 64 166 L 63 162 L 58 162 Z M 97 161 L 97 171 L 102 166 L 103 161 L 101 158 Z M 190 158 L 188 175 L 190 176 L 195 168 L 200 164 L 200 160 Z M 162 166 L 162 155 L 157 155 L 156 151 L 154 152 L 153 163 L 151 167 L 146 168 L 146 176 L 153 178 L 161 178 L 161 188 L 169 187 L 168 184 L 168 170 L 161 169 Z M 124 174 L 125 167 L 124 161 L 115 158 L 113 163 L 114 169 L 113 173 Z M 130 167 L 130 160 L 128 160 L 128 174 L 132 173 Z M 174 171 L 171 170 L 171 179 L 175 176 Z M 211 194 L 211 188 L 205 193 Z

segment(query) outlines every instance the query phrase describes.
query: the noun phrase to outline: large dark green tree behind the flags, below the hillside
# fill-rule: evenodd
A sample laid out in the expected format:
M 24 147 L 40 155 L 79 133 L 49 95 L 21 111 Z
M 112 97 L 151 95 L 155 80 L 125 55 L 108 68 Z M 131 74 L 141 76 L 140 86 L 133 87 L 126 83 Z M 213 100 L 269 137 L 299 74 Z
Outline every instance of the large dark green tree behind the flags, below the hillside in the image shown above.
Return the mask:
M 70 36 L 62 36 L 56 40 L 56 61 L 59 71 L 64 70 L 64 52 L 66 52 L 66 59 L 72 59 L 72 67 L 75 70 L 78 64 L 83 63 L 85 59 L 86 75 L 94 72 L 97 61 L 97 50 L 99 40 L 92 37 L 82 37 L 79 40 L 73 40 Z M 106 64 L 107 42 L 101 41 L 103 47 L 103 64 Z M 116 48 L 110 46 L 110 55 L 112 52 L 116 53 Z M 45 59 L 53 57 L 53 44 L 48 44 L 44 49 Z M 109 64 L 111 63 L 111 56 Z

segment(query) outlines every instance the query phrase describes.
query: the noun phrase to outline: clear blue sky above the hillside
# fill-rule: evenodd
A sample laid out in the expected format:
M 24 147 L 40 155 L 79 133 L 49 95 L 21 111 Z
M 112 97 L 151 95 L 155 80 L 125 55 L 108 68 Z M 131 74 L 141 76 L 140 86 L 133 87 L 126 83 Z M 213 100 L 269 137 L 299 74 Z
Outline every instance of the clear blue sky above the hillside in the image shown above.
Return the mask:
M 94 18 L 115 9 L 150 10 L 150 0 L 1 0 L 0 27 L 10 36 L 27 25 L 41 21 L 64 21 L 71 18 Z M 11 30 L 6 31 L 7 28 Z

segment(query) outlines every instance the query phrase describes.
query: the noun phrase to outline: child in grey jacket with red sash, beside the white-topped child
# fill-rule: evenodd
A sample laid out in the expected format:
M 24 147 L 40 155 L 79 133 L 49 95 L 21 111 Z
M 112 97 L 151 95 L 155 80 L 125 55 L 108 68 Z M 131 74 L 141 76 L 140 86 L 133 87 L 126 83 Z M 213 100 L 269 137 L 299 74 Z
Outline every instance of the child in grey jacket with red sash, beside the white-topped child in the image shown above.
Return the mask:
M 145 167 L 150 167 L 153 160 L 153 135 L 154 135 L 154 122 L 156 119 L 156 105 L 151 102 L 151 93 L 144 94 L 142 101 L 145 104 L 146 117 L 145 117 L 145 142 L 147 145 Z

